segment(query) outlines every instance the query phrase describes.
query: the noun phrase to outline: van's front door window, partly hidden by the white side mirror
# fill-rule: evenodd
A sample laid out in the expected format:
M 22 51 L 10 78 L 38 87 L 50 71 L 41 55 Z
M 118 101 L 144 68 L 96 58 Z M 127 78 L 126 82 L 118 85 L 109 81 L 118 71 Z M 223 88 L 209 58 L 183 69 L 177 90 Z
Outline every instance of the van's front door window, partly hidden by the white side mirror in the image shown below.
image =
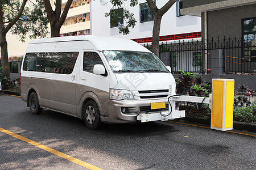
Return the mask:
M 89 71 L 93 73 L 94 65 L 101 64 L 104 65 L 100 56 L 96 52 L 84 52 L 84 71 Z

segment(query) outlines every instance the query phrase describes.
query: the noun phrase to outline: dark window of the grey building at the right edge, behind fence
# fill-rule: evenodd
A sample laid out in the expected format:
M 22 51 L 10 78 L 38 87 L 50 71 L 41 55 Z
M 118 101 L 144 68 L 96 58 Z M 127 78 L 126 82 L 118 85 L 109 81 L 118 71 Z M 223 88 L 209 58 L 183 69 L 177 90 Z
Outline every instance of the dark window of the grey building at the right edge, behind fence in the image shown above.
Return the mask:
M 256 18 L 242 20 L 243 57 L 256 62 Z

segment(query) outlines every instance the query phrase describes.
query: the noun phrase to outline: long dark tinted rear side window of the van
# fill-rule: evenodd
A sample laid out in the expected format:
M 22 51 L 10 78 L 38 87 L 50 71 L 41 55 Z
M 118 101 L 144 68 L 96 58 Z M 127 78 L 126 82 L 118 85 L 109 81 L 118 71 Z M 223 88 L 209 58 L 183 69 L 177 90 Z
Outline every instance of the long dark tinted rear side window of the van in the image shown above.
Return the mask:
M 71 74 L 79 52 L 27 53 L 23 70 L 57 74 Z

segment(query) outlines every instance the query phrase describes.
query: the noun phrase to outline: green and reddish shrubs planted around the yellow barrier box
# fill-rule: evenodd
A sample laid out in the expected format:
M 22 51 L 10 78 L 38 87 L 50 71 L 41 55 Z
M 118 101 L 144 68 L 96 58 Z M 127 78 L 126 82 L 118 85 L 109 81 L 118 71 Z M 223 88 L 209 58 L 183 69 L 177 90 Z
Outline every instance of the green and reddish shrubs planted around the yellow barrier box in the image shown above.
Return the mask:
M 194 73 L 180 71 L 181 76 L 176 79 L 177 94 L 192 96 L 209 96 L 212 93 L 212 81 L 204 83 L 203 78 Z M 236 88 L 234 95 L 234 120 L 256 123 L 256 101 L 250 102 L 256 90 L 242 84 Z M 239 95 L 238 95 L 239 94 Z M 249 98 L 248 98 L 249 97 Z M 186 114 L 197 117 L 210 117 L 209 104 L 183 103 L 180 109 Z

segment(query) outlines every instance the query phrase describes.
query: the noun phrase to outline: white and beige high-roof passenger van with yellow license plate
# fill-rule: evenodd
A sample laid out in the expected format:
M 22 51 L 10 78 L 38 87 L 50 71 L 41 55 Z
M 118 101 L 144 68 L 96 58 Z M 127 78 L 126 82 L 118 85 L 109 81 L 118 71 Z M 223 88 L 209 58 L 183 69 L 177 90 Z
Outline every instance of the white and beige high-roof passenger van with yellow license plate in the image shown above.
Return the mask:
M 170 67 L 137 42 L 55 37 L 28 45 L 20 95 L 34 114 L 46 108 L 96 129 L 101 122 L 134 123 L 139 113 L 168 109 L 170 84 L 175 87 Z

